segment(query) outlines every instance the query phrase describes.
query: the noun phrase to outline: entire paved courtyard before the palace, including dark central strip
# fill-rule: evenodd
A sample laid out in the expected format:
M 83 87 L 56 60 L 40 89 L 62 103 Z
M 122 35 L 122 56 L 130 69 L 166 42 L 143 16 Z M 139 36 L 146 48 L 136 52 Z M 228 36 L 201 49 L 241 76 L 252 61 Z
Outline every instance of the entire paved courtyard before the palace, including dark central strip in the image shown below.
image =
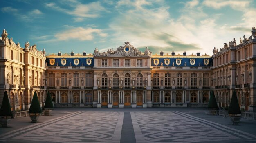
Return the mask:
M 256 121 L 242 119 L 232 126 L 229 118 L 204 114 L 204 109 L 88 109 L 56 108 L 39 123 L 29 117 L 11 119 L 12 128 L 0 128 L 0 142 L 137 142 L 234 143 L 256 142 Z

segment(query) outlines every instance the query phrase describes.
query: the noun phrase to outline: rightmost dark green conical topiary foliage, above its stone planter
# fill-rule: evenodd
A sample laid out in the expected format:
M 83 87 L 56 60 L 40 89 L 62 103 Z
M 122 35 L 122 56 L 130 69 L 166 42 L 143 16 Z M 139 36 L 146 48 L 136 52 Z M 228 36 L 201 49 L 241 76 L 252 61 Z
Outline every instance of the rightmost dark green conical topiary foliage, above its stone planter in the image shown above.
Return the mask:
M 232 94 L 232 98 L 230 101 L 230 105 L 229 105 L 229 110 L 228 110 L 229 114 L 233 114 L 233 116 L 235 116 L 235 114 L 241 114 L 241 110 L 240 110 L 240 106 L 236 97 L 236 91 L 233 91 Z

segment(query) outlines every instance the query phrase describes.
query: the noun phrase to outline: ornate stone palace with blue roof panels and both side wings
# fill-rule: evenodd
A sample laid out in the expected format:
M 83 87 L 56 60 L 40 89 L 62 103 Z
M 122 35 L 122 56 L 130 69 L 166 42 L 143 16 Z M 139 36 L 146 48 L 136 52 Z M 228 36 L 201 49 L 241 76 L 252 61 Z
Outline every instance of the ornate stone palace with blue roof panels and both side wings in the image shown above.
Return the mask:
M 256 112 L 256 29 L 213 49 L 213 55 L 153 55 L 129 42 L 93 54 L 45 55 L 0 39 L 0 103 L 8 92 L 12 110 L 28 110 L 36 91 L 43 107 L 49 90 L 56 107 L 206 107 L 210 90 L 218 106 L 229 105 L 233 90 L 240 107 Z

